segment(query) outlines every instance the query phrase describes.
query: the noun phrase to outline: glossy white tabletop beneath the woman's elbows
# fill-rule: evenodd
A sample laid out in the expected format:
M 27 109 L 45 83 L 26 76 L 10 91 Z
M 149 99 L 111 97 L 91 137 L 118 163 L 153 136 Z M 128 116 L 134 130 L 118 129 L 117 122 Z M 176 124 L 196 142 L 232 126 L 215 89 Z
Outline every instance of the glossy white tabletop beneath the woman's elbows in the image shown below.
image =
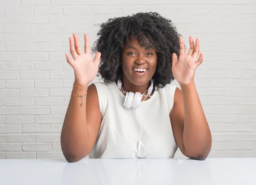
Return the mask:
M 256 185 L 256 158 L 0 159 L 0 185 Z

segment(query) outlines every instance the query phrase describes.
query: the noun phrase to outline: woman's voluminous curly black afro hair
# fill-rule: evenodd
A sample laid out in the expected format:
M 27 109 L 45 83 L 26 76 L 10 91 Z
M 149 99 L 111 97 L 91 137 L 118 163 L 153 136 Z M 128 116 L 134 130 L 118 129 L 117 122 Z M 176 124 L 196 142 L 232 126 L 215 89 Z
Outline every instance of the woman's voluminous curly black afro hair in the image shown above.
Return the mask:
M 180 55 L 179 37 L 171 20 L 161 17 L 156 12 L 137 13 L 127 17 L 114 17 L 100 24 L 99 37 L 93 44 L 92 51 L 101 52 L 99 74 L 104 82 L 117 81 L 122 74 L 121 55 L 129 37 L 137 38 L 142 46 L 152 43 L 157 53 L 157 69 L 153 75 L 154 85 L 165 87 L 174 80 L 172 74 L 172 53 Z M 97 74 L 97 76 L 99 76 Z

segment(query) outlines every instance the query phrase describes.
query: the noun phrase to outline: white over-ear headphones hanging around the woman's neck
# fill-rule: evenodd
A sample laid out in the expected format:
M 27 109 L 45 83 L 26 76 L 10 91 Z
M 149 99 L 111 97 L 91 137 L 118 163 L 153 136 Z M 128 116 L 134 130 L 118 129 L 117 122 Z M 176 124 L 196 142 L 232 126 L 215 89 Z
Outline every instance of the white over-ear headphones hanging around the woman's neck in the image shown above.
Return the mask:
M 136 109 L 137 107 L 139 107 L 141 98 L 143 97 L 144 94 L 142 95 L 142 94 L 140 94 L 140 92 L 136 92 L 135 94 L 133 92 L 130 92 L 130 93 L 125 92 L 122 89 L 121 75 L 118 78 L 117 87 L 119 88 L 119 90 L 121 90 L 122 93 L 126 93 L 125 101 L 123 104 L 126 108 L 133 107 Z M 145 95 L 144 96 L 147 97 L 148 95 L 150 95 L 152 93 L 152 90 L 153 90 L 153 79 L 151 78 L 150 79 L 150 87 L 148 88 L 148 90 L 146 90 L 146 91 L 148 91 L 148 93 L 146 96 Z

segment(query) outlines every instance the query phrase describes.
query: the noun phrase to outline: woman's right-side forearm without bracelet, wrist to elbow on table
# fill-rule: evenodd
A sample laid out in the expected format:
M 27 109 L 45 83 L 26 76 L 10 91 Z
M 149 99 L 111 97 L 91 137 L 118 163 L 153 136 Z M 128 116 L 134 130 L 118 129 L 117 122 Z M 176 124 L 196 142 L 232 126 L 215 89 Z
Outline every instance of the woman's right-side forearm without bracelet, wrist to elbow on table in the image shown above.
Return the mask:
M 184 101 L 183 143 L 190 157 L 206 158 L 212 145 L 212 136 L 204 115 L 195 83 L 180 86 Z

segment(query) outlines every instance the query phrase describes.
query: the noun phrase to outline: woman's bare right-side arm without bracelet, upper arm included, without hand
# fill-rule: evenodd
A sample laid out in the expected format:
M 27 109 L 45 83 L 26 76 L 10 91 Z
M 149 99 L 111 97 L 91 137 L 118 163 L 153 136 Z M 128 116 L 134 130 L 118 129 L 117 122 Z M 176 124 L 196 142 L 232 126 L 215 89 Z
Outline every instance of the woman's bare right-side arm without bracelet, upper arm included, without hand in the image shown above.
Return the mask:
M 212 146 L 209 126 L 195 84 L 181 87 L 181 90 L 175 90 L 175 102 L 170 113 L 175 141 L 185 156 L 204 160 Z

